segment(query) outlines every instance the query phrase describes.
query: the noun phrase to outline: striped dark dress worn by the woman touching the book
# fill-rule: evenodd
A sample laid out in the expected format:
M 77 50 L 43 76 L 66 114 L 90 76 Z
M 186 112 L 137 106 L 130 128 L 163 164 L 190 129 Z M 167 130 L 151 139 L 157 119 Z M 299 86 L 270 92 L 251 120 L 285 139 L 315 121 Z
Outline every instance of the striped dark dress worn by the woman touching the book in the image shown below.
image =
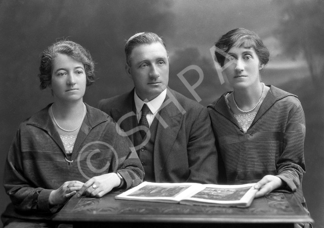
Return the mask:
M 307 210 L 301 182 L 305 173 L 305 116 L 296 96 L 270 87 L 244 132 L 222 95 L 208 111 L 216 138 L 220 184 L 255 183 L 265 175 L 285 182 Z

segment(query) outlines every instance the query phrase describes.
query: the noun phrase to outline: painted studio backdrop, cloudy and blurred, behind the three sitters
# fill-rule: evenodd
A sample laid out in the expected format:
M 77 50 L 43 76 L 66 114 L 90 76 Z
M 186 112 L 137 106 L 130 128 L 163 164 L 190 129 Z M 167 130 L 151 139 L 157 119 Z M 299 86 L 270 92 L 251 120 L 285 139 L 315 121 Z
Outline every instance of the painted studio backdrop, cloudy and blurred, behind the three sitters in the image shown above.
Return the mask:
M 258 33 L 270 49 L 265 84 L 295 94 L 306 115 L 303 190 L 315 227 L 324 228 L 323 0 L 0 0 L 0 180 L 19 124 L 52 102 L 40 91 L 40 53 L 59 39 L 87 48 L 96 82 L 84 97 L 132 89 L 123 46 L 137 32 L 155 32 L 169 51 L 169 87 L 207 105 L 231 90 L 210 48 L 235 28 Z M 186 83 L 189 83 L 186 85 Z M 0 187 L 0 212 L 9 197 Z

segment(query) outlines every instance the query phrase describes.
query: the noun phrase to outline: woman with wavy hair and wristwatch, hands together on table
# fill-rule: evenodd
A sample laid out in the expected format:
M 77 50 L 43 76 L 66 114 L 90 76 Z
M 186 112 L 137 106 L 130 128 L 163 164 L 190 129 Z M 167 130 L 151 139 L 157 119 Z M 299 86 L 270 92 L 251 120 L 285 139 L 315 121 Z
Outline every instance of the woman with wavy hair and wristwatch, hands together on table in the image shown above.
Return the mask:
M 40 88 L 54 102 L 24 121 L 10 147 L 4 187 L 11 203 L 6 228 L 52 227 L 50 219 L 78 194 L 102 197 L 143 180 L 143 167 L 127 135 L 110 116 L 83 102 L 94 82 L 94 62 L 73 41 L 44 50 Z

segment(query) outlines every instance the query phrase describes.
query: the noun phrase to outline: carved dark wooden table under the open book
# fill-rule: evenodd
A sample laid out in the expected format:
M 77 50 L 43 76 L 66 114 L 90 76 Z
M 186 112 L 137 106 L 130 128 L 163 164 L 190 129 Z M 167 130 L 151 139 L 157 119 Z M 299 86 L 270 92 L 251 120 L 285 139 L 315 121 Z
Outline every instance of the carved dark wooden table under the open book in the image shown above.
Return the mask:
M 173 203 L 73 196 L 53 221 L 74 228 L 207 228 L 207 227 L 293 227 L 314 221 L 294 194 L 274 193 L 256 198 L 248 208 L 190 206 Z

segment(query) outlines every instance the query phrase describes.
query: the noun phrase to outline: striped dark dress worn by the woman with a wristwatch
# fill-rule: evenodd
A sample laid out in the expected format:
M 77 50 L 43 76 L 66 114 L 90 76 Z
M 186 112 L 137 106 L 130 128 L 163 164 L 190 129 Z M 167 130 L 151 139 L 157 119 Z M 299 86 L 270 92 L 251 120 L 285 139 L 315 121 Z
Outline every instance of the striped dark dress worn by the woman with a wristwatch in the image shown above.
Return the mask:
M 72 154 L 48 115 L 48 105 L 24 121 L 8 152 L 4 188 L 11 202 L 1 216 L 11 221 L 51 219 L 63 205 L 49 206 L 50 193 L 66 181 L 86 182 L 94 176 L 118 171 L 125 189 L 140 184 L 144 170 L 127 135 L 113 119 L 86 105 L 87 113 Z M 73 163 L 67 163 L 65 158 Z

